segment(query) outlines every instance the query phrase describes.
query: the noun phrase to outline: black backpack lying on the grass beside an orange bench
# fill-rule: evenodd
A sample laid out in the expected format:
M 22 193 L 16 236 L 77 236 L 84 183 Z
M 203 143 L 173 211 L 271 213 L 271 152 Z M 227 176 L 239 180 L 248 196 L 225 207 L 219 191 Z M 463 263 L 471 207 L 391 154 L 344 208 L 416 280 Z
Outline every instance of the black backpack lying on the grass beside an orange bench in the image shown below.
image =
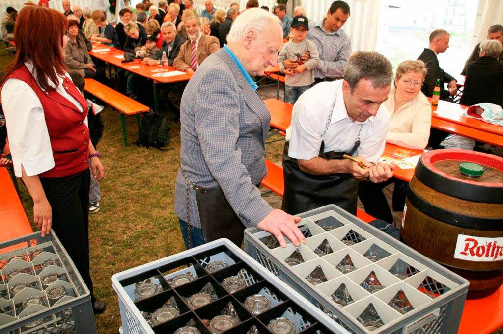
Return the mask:
M 170 143 L 170 129 L 166 114 L 150 109 L 143 115 L 136 145 L 160 149 Z

